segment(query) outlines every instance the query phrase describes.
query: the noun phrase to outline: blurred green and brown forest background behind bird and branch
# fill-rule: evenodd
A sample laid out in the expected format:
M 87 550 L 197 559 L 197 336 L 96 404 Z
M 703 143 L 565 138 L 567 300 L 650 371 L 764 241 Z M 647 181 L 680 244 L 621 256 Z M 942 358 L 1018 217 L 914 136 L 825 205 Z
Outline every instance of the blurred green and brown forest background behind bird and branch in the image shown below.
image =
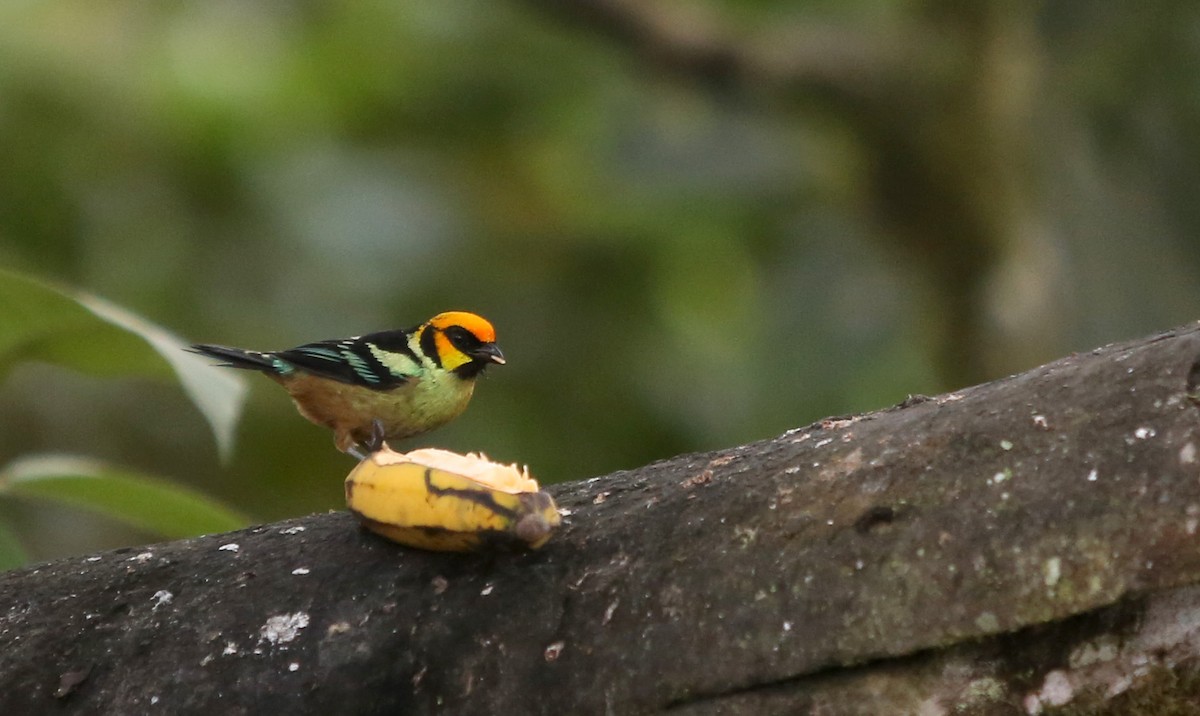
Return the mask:
M 475 311 L 509 365 L 401 447 L 544 482 L 1193 320 L 1198 187 L 1194 2 L 0 4 L 0 266 L 260 349 Z M 20 366 L 0 463 L 341 509 L 353 461 L 247 378 L 222 463 L 178 385 Z

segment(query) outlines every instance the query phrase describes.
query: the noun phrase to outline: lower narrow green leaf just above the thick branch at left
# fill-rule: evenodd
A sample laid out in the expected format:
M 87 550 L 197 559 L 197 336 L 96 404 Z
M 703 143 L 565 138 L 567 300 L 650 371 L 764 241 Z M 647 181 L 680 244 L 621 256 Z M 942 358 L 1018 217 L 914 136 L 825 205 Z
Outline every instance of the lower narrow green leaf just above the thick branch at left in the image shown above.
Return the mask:
M 88 458 L 42 455 L 0 471 L 0 493 L 54 500 L 170 538 L 240 529 L 250 523 L 203 494 Z

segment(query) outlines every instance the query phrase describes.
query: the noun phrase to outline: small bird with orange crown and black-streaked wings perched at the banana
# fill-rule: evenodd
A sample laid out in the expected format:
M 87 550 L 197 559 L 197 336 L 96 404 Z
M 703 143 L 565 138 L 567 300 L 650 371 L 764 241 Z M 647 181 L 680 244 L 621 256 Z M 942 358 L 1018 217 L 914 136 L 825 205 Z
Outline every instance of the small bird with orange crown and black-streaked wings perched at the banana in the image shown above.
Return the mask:
M 310 421 L 334 431 L 337 449 L 359 459 L 440 427 L 467 409 L 475 379 L 505 363 L 487 319 L 448 311 L 412 329 L 246 350 L 190 348 L 220 366 L 258 371 L 282 385 Z

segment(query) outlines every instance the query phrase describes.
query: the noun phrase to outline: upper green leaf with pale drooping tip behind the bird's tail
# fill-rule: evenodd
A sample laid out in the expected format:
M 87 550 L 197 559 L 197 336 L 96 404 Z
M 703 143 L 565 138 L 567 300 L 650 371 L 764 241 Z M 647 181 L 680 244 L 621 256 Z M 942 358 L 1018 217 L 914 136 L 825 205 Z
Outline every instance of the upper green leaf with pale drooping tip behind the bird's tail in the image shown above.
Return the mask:
M 166 329 L 103 299 L 0 270 L 0 377 L 36 360 L 90 375 L 178 378 L 226 458 L 246 384 L 186 348 Z

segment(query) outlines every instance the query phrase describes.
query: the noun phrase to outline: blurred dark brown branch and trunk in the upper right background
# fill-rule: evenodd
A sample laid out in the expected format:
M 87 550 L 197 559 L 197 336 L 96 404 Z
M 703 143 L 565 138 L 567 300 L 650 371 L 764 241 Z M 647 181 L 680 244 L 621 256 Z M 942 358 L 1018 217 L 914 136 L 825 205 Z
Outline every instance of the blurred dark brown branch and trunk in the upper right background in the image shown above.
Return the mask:
M 1028 210 L 1024 108 L 1032 90 L 1012 73 L 1031 61 L 1032 11 L 948 4 L 878 36 L 797 13 L 752 35 L 694 5 L 526 1 L 650 67 L 748 94 L 796 121 L 827 114 L 850 127 L 866 157 L 862 210 L 923 277 L 943 384 L 994 374 L 986 289 Z

